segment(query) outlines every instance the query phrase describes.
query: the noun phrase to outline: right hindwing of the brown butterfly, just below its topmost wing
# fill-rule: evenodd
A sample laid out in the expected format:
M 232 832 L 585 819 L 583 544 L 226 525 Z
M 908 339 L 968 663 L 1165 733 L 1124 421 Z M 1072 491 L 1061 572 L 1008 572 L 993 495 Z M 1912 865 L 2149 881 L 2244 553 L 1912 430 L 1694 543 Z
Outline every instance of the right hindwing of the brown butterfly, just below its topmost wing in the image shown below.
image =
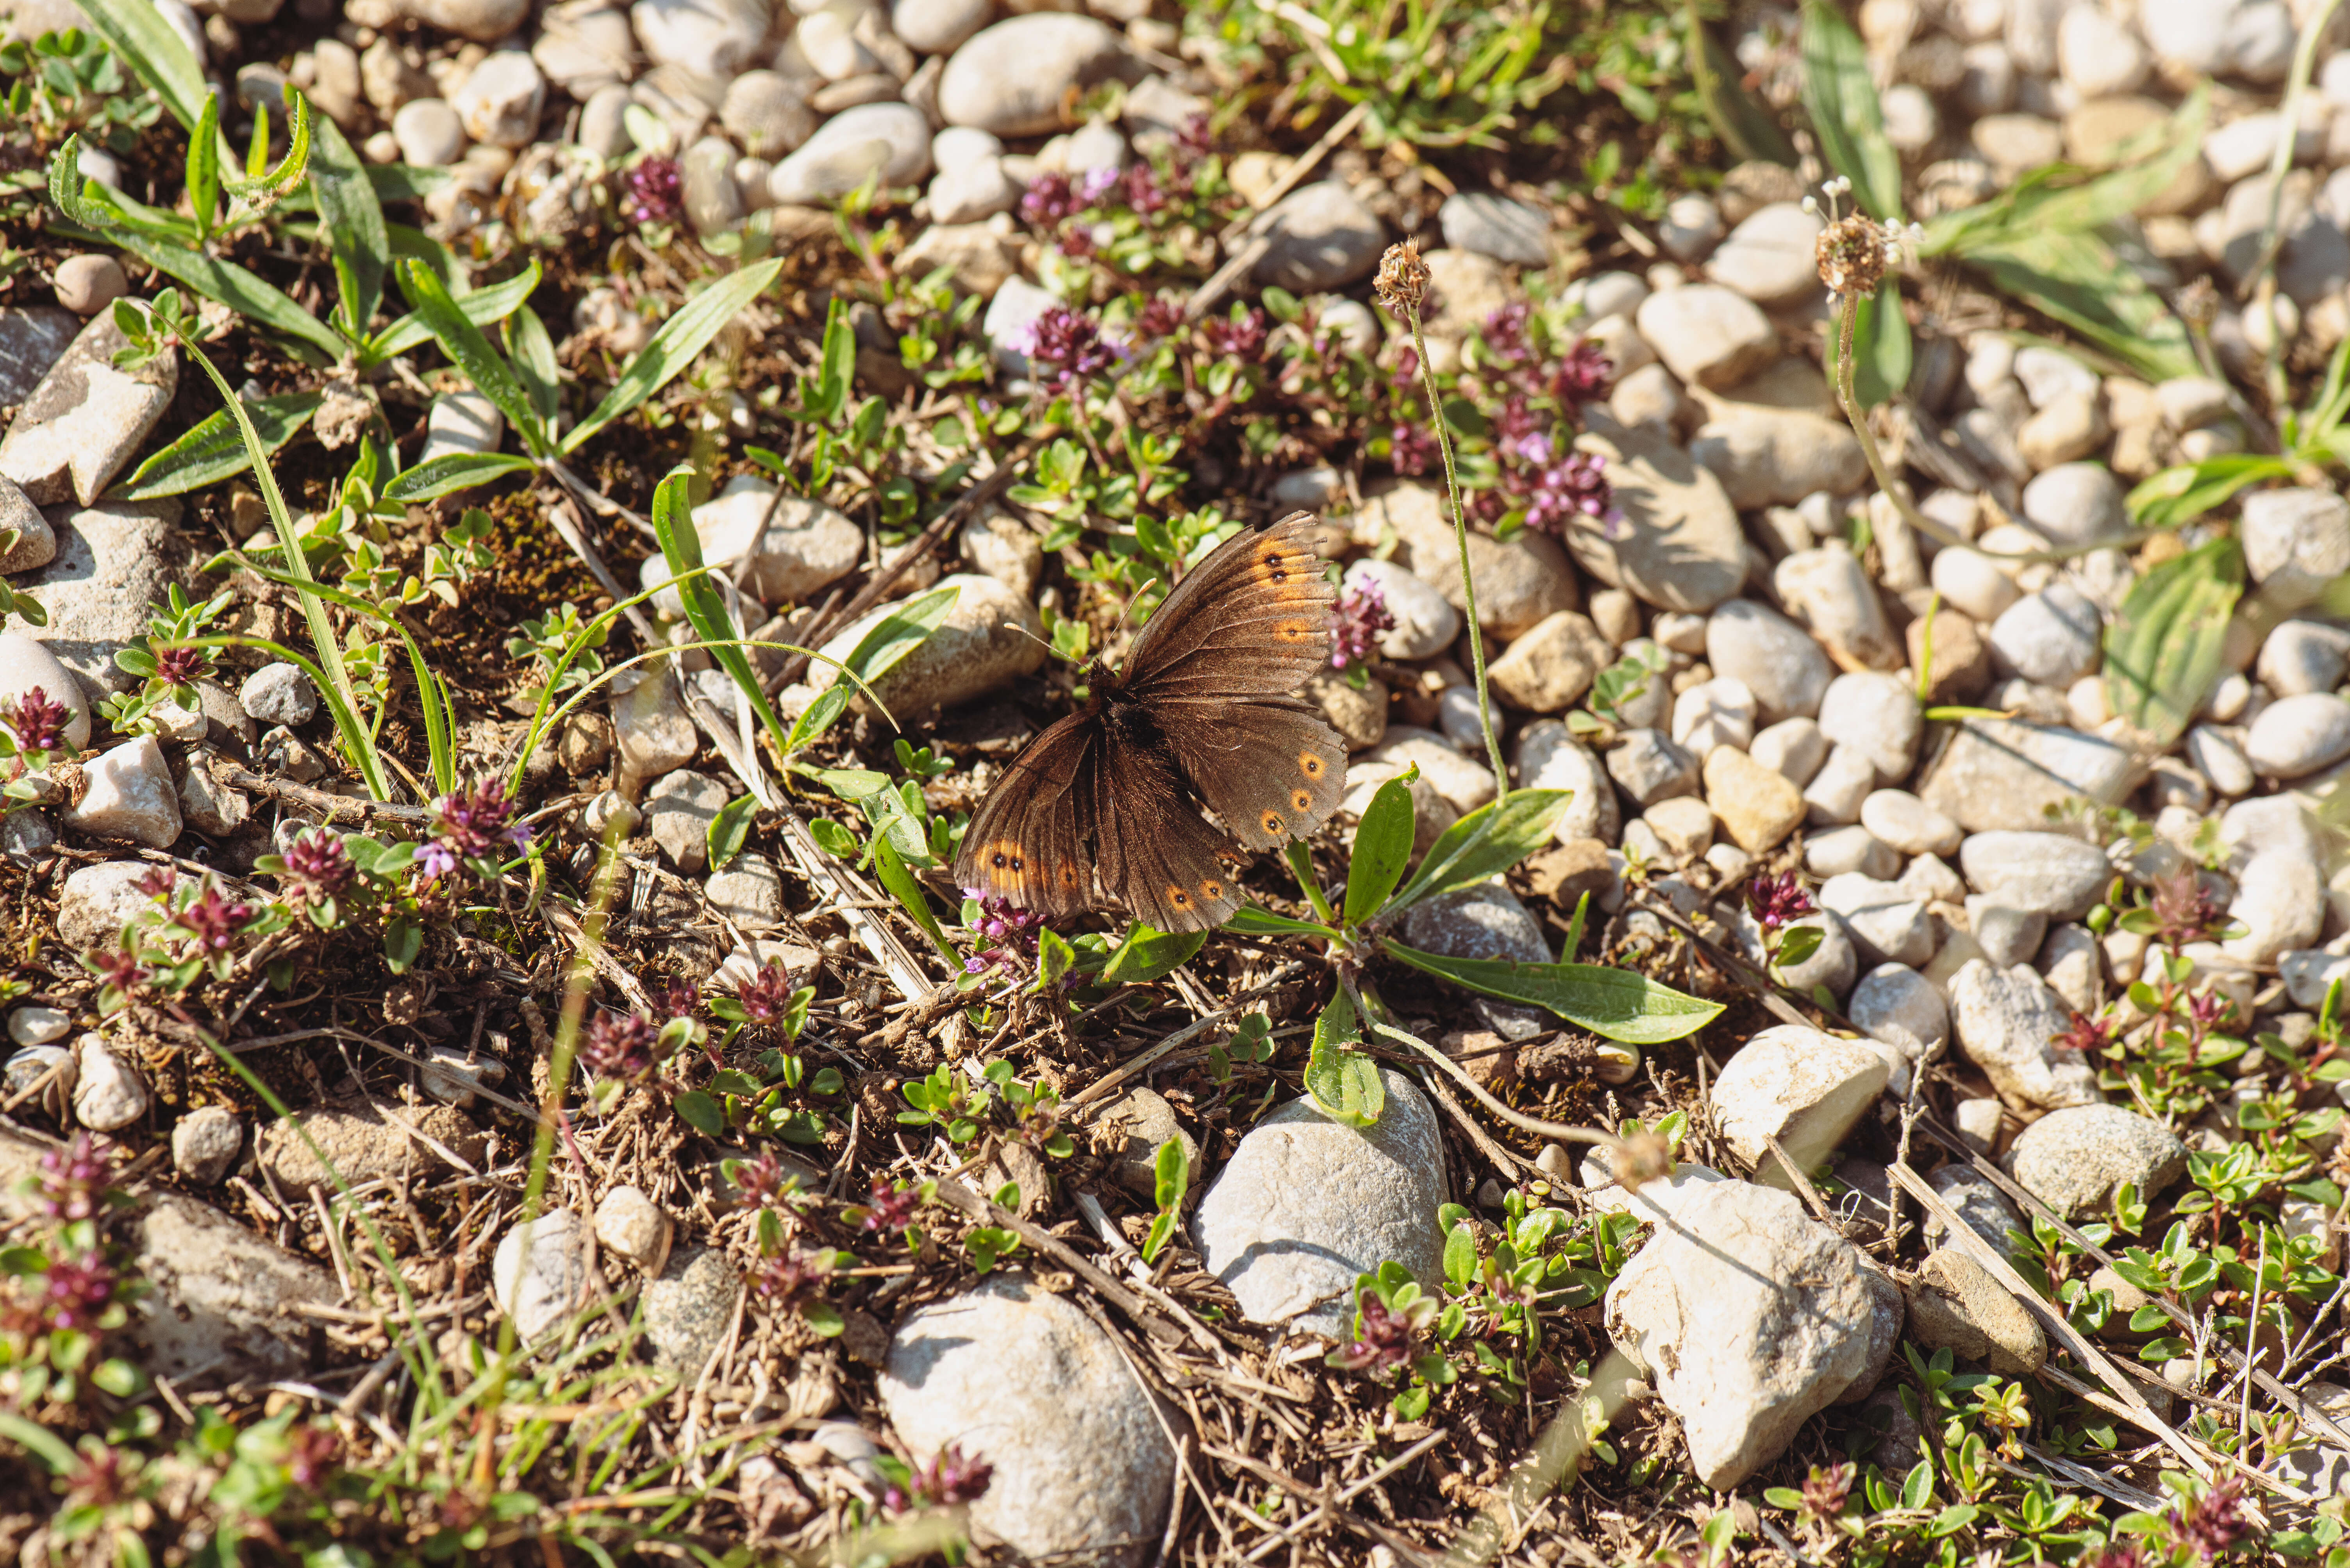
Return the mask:
M 1250 850 L 1307 838 L 1347 796 L 1347 742 L 1288 697 L 1154 704 L 1184 782 Z

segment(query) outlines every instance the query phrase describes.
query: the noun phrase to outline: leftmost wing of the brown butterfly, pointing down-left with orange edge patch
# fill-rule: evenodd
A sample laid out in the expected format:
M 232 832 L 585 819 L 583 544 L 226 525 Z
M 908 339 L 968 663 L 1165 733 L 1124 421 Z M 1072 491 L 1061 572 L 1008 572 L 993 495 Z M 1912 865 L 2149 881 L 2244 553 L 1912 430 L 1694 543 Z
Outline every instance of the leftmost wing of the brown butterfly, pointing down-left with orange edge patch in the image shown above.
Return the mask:
M 1100 751 L 1102 721 L 1093 711 L 1039 735 L 971 819 L 954 857 L 954 883 L 1048 920 L 1088 908 L 1093 859 L 1086 840 L 1100 831 Z

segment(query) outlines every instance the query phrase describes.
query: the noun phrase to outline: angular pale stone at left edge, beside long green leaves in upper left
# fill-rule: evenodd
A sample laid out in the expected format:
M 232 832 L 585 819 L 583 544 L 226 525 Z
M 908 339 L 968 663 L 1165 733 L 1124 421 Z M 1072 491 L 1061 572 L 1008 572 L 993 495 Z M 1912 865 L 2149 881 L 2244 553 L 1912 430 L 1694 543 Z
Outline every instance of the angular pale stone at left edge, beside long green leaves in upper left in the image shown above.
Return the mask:
M 113 357 L 125 347 L 113 312 L 94 317 L 0 437 L 0 479 L 33 505 L 96 502 L 172 406 L 179 350 L 120 371 Z

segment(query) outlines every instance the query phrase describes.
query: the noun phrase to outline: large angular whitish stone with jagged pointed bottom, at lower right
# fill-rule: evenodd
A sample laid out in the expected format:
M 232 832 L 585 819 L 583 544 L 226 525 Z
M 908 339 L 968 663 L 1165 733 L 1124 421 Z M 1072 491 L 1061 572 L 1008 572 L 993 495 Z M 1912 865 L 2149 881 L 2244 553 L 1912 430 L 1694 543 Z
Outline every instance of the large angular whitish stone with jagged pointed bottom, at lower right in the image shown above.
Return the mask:
M 1607 1336 L 1680 1418 L 1699 1481 L 1732 1488 L 1864 1380 L 1873 1277 L 1793 1195 L 1699 1183 L 1607 1286 Z

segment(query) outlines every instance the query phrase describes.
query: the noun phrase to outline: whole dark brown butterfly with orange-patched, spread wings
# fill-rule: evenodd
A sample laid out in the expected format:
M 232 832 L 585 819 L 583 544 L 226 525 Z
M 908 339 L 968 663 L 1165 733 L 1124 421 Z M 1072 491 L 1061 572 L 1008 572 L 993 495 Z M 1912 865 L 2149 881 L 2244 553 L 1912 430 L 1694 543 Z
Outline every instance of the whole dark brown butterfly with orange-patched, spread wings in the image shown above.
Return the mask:
M 1048 920 L 1109 894 L 1161 932 L 1241 906 L 1220 854 L 1318 829 L 1347 791 L 1347 742 L 1290 697 L 1330 660 L 1314 514 L 1257 523 L 1175 584 L 1123 674 L 1036 737 L 980 805 L 954 880 Z M 1206 805 L 1224 824 L 1208 826 Z

